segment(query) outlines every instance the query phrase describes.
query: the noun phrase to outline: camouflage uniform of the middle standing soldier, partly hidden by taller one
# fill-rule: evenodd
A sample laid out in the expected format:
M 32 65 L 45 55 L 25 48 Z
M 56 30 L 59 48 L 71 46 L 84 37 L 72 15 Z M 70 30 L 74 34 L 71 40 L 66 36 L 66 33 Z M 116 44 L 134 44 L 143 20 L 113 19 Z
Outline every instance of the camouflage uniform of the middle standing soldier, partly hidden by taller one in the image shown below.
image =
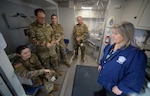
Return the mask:
M 63 62 L 67 62 L 67 54 L 66 54 L 66 45 L 64 42 L 64 33 L 63 28 L 60 24 L 50 24 L 54 30 L 55 39 L 60 39 L 60 42 L 58 45 L 56 45 L 56 51 L 58 54 L 59 62 L 60 58 L 62 58 Z M 61 53 L 61 54 L 60 54 Z

